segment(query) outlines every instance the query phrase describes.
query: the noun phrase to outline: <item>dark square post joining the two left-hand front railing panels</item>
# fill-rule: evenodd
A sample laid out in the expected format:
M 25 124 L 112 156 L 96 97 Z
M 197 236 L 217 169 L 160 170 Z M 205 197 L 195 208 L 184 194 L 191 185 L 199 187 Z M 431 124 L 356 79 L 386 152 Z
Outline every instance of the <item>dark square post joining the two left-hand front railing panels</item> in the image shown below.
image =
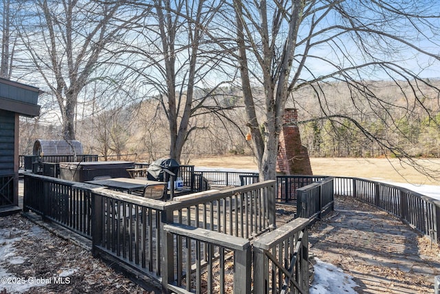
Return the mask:
M 104 215 L 104 198 L 96 193 L 91 193 L 91 253 L 98 256 L 98 245 L 102 245 L 102 218 Z

